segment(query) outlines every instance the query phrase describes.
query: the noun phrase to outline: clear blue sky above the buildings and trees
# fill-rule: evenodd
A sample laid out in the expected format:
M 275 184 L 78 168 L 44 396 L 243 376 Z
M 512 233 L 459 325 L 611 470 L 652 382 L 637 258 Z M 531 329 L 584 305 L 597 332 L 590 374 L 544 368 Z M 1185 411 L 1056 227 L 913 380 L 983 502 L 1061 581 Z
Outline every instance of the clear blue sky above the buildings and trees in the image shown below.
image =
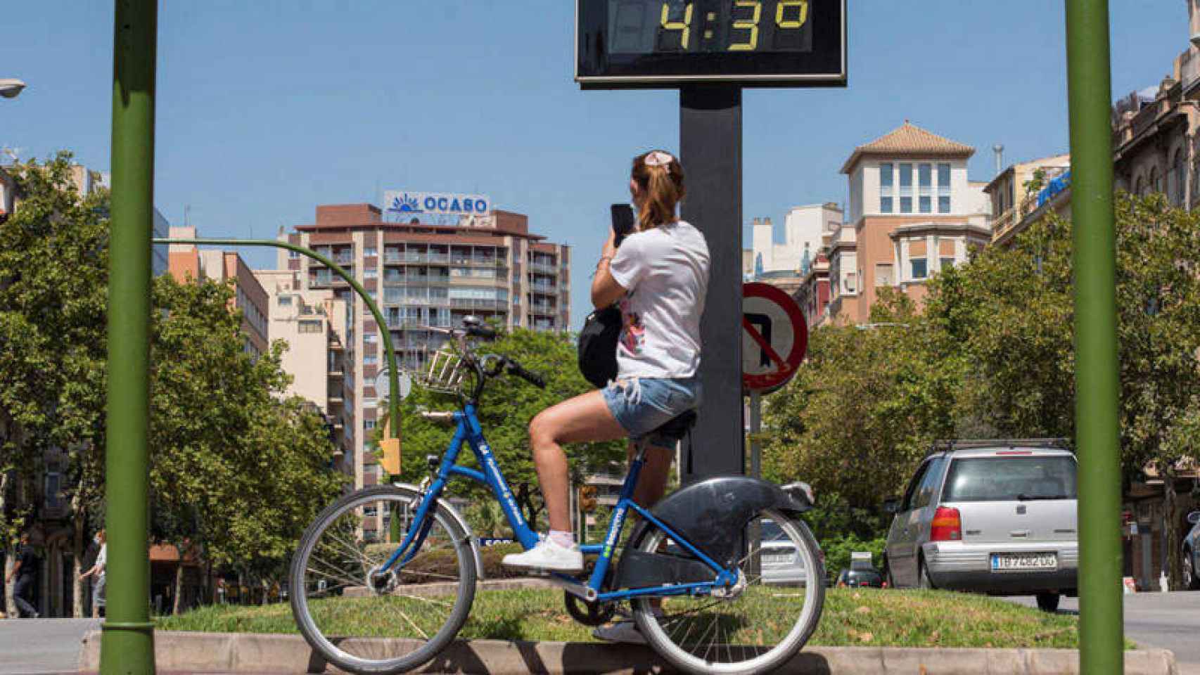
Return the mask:
M 317 204 L 407 188 L 482 192 L 575 247 L 574 323 L 628 199 L 629 159 L 678 146 L 674 91 L 582 92 L 570 0 L 163 2 L 155 201 L 202 235 L 274 236 Z M 1112 85 L 1157 85 L 1187 47 L 1184 4 L 1112 6 Z M 0 144 L 107 170 L 113 4 L 6 2 Z M 976 146 L 974 180 L 1068 146 L 1062 2 L 850 1 L 850 86 L 744 97 L 745 221 L 846 199 L 854 145 L 905 119 Z M 686 158 L 684 158 L 686 167 Z M 253 266 L 274 257 L 246 251 Z

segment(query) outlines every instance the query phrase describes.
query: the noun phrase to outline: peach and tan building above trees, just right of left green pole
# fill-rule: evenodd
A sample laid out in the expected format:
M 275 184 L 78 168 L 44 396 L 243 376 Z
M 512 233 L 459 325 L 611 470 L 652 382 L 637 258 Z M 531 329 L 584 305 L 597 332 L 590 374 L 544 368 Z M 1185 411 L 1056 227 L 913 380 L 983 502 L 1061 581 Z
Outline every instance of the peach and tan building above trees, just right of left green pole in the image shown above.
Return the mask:
M 196 239 L 196 228 L 170 228 L 170 239 Z M 167 251 L 167 267 L 179 282 L 211 279 L 221 284 L 233 283 L 230 309 L 241 309 L 246 351 L 253 355 L 266 351 L 266 290 L 238 252 L 202 251 L 193 243 L 172 243 Z

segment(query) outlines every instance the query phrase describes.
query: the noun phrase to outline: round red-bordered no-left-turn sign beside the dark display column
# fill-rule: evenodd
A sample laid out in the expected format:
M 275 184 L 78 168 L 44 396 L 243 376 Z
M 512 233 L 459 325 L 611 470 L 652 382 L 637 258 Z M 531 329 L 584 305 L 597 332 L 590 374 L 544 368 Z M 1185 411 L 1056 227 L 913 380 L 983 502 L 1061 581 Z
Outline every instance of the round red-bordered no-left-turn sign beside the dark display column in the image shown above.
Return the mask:
M 775 390 L 796 375 L 809 345 L 800 306 L 763 283 L 742 285 L 742 386 Z

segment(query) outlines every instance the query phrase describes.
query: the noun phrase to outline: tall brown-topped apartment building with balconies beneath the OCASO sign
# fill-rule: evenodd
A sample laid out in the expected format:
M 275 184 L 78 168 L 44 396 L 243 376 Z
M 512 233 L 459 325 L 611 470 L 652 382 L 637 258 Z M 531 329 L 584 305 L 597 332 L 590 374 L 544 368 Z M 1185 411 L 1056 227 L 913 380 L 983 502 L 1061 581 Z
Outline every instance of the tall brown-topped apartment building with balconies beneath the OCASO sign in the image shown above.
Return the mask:
M 329 291 L 344 302 L 342 418 L 355 487 L 382 477 L 366 452 L 385 404 L 382 331 L 391 335 L 401 367 L 415 369 L 446 343 L 431 329 L 460 326 L 467 315 L 504 327 L 570 326 L 570 247 L 532 234 L 521 213 L 492 210 L 458 223 L 389 222 L 372 204 L 320 205 L 313 223 L 278 235 L 352 272 L 384 314 L 386 325 L 377 325 L 332 270 L 290 251 L 278 253 L 278 269 L 295 275 L 299 291 Z M 383 518 L 367 516 L 364 535 L 379 536 Z

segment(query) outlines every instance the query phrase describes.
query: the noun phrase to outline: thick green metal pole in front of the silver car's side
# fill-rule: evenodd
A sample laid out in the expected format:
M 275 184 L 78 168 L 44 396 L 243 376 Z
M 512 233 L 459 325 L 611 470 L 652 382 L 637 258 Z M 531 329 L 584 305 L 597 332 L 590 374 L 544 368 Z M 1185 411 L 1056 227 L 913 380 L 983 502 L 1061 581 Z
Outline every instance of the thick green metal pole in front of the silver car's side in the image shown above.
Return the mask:
M 1067 0 L 1080 673 L 1124 670 L 1108 0 Z

